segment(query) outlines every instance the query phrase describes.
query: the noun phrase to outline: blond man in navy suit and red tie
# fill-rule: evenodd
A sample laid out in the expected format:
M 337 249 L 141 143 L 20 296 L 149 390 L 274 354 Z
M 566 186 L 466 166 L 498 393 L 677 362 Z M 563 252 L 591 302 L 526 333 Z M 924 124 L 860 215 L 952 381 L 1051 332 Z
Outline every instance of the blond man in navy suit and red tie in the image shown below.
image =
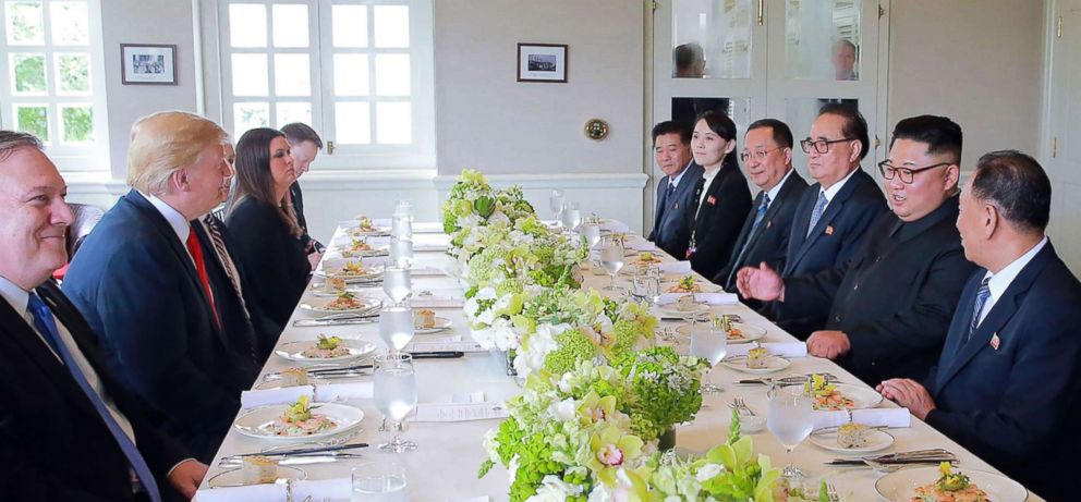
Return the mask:
M 228 192 L 224 140 L 217 124 L 191 113 L 136 122 L 134 188 L 101 219 L 64 281 L 121 382 L 202 460 L 212 458 L 258 374 L 236 292 L 192 222 Z

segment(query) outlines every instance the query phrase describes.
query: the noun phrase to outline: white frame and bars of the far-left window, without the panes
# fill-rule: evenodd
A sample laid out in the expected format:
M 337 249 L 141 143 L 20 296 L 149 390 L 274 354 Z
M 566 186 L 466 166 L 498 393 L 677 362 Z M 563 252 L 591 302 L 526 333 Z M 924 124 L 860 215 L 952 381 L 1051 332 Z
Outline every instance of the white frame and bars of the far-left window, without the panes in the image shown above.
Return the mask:
M 36 0 L 44 5 L 44 45 L 9 46 L 7 3 L 0 0 L 0 128 L 14 130 L 17 125 L 15 106 L 46 105 L 49 108 L 49 142 L 46 151 L 61 172 L 109 174 L 109 121 L 106 103 L 105 49 L 101 38 L 101 4 L 100 0 Z M 52 24 L 50 4 L 56 1 L 83 1 L 86 3 L 87 29 L 89 45 L 87 46 L 54 46 L 52 45 Z M 14 94 L 10 68 L 12 52 L 45 53 L 47 94 L 41 96 L 17 96 Z M 90 93 L 89 95 L 64 95 L 58 89 L 54 54 L 65 52 L 89 53 L 90 58 Z M 61 108 L 69 103 L 89 103 L 94 112 L 94 142 L 89 145 L 64 144 L 63 121 Z

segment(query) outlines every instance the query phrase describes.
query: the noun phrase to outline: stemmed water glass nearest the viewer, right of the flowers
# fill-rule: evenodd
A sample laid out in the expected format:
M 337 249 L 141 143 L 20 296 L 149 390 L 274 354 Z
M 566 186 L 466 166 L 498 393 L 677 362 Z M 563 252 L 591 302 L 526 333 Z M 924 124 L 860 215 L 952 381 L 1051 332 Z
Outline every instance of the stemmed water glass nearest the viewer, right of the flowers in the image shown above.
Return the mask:
M 766 427 L 788 451 L 789 464 L 781 474 L 788 486 L 795 486 L 803 478 L 803 473 L 792 463 L 792 451 L 811 436 L 814 428 L 813 403 L 807 385 L 774 387 L 769 390 Z

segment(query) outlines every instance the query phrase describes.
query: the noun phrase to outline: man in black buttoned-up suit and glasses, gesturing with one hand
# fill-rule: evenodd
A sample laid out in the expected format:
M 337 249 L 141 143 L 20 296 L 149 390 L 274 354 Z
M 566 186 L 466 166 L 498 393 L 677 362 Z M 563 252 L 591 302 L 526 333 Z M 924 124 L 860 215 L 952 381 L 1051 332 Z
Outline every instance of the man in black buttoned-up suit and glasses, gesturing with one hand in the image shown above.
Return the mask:
M 892 213 L 877 218 L 845 265 L 811 276 L 740 272 L 744 296 L 786 311 L 828 311 L 807 339 L 811 355 L 836 360 L 863 381 L 922 378 L 938 360 L 957 298 L 974 266 L 964 259 L 958 215 L 961 127 L 944 117 L 897 123 L 879 164 Z

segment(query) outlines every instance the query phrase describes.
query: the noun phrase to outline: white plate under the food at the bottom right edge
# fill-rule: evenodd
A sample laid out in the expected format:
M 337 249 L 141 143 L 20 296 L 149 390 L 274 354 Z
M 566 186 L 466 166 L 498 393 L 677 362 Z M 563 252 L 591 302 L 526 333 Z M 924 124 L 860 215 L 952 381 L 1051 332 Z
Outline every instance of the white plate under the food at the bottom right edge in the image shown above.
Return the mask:
M 995 502 L 1023 502 L 1029 497 L 1029 490 L 1005 476 L 957 466 L 954 466 L 954 472 L 968 476 L 973 485 L 987 492 L 987 499 Z M 916 487 L 935 482 L 938 477 L 938 467 L 901 469 L 878 478 L 875 491 L 892 502 L 909 502 L 915 495 Z

